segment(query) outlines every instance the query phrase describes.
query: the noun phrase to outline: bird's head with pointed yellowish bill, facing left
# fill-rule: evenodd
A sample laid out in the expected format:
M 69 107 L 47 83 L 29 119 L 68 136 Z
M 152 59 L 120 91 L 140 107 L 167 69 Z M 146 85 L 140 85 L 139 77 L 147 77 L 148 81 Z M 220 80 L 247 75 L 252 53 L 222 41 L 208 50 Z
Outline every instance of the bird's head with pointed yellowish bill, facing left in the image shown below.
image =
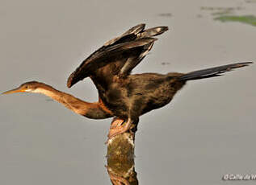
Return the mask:
M 2 94 L 11 94 L 11 93 L 37 93 L 36 89 L 40 88 L 43 83 L 37 81 L 29 81 L 24 84 L 19 85 L 18 88 L 14 88 L 10 91 L 6 91 Z

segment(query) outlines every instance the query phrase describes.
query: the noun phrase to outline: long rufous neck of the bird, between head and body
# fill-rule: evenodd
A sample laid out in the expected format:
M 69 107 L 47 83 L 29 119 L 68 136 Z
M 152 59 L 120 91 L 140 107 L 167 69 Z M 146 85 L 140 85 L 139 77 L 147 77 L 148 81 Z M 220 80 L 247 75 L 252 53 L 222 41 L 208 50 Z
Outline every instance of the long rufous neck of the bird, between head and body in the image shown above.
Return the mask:
M 112 117 L 110 112 L 103 109 L 100 102 L 86 102 L 82 101 L 68 93 L 63 93 L 48 84 L 41 84 L 36 88 L 33 93 L 42 93 L 45 96 L 51 97 L 53 100 L 65 105 L 66 108 L 71 109 L 74 113 L 81 114 L 82 116 L 92 119 L 104 119 Z

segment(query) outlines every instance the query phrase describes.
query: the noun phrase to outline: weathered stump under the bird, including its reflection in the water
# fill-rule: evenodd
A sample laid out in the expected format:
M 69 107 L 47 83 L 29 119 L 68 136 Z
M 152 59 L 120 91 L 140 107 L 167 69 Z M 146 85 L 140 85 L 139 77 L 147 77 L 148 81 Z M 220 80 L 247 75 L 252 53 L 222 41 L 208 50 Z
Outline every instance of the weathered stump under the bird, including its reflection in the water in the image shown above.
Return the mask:
M 112 121 L 110 133 L 116 129 L 116 119 Z M 107 172 L 113 184 L 136 185 L 134 168 L 134 141 L 136 126 L 124 134 L 118 134 L 107 141 Z

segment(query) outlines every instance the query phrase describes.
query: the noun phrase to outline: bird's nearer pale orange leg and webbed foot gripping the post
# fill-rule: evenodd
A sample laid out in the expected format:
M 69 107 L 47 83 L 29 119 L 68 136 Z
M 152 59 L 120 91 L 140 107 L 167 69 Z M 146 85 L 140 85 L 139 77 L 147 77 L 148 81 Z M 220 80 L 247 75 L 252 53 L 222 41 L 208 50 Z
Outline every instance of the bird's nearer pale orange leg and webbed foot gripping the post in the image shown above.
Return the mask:
M 117 121 L 120 121 L 120 120 L 117 120 Z M 128 131 L 128 129 L 130 129 L 132 126 L 132 119 L 129 117 L 128 121 L 126 121 L 124 124 L 120 125 L 120 122 L 118 122 L 118 123 L 113 123 L 113 125 L 117 125 L 117 126 L 113 129 L 110 129 L 110 132 L 108 134 L 108 139 L 111 139 L 118 134 L 123 134 L 126 131 Z

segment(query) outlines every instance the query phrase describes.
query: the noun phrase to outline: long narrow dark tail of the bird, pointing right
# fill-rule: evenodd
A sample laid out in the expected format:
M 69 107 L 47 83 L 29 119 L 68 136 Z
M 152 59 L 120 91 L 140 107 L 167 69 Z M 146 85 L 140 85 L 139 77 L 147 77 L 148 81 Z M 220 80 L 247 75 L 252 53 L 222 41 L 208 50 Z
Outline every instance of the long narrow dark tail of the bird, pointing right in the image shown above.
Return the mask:
M 237 64 L 229 64 L 229 65 L 222 65 L 215 68 L 207 68 L 195 72 L 188 72 L 183 76 L 180 76 L 179 80 L 199 80 L 204 78 L 211 78 L 215 76 L 221 76 L 224 72 L 232 71 L 233 68 L 241 68 L 248 66 L 249 64 L 253 64 L 252 62 L 244 62 L 244 63 L 237 63 Z

